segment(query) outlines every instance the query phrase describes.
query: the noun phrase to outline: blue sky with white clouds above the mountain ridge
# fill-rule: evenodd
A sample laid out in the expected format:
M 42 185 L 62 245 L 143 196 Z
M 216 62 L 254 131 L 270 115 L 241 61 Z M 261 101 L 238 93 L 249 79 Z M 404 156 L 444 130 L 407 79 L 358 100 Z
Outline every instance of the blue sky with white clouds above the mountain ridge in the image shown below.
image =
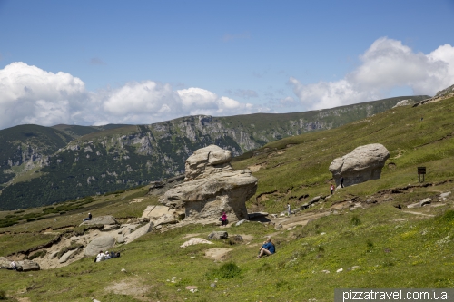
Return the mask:
M 0 0 L 0 129 L 432 96 L 453 29 L 454 0 Z

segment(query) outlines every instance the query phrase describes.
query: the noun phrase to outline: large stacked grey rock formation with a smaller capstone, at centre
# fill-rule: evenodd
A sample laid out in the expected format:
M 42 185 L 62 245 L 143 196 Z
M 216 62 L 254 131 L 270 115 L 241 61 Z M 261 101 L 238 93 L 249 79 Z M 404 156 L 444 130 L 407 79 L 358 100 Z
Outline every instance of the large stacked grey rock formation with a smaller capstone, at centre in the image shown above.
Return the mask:
M 209 223 L 222 212 L 230 221 L 248 219 L 246 200 L 257 190 L 251 170 L 233 170 L 230 151 L 215 145 L 195 151 L 186 160 L 185 182 L 167 190 L 160 202 L 184 209 L 184 221 Z

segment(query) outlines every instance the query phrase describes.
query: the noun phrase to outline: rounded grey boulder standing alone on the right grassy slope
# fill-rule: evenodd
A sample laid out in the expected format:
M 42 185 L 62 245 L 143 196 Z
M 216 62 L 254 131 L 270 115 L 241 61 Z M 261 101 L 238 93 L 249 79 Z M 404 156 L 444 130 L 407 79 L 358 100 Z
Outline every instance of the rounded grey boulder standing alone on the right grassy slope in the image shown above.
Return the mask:
M 330 171 L 336 181 L 344 186 L 380 179 L 381 169 L 390 157 L 390 152 L 380 143 L 360 146 L 340 158 L 331 162 Z

